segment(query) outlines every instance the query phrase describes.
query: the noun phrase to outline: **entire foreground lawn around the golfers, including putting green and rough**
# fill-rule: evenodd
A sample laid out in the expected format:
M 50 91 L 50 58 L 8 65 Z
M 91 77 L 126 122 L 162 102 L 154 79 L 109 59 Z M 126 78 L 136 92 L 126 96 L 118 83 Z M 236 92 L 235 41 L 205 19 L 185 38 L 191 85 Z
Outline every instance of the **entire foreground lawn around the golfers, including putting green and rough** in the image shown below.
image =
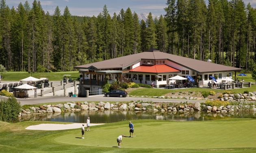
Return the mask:
M 93 123 L 93 121 L 91 121 Z M 133 120 L 134 138 L 129 136 L 128 121 L 97 125 L 81 139 L 80 128 L 74 130 L 25 130 L 29 125 L 61 123 L 0 121 L 0 150 L 8 153 L 254 153 L 256 119 L 221 119 L 214 121 Z M 85 137 L 85 135 L 84 135 Z M 99 145 L 99 146 L 96 146 Z

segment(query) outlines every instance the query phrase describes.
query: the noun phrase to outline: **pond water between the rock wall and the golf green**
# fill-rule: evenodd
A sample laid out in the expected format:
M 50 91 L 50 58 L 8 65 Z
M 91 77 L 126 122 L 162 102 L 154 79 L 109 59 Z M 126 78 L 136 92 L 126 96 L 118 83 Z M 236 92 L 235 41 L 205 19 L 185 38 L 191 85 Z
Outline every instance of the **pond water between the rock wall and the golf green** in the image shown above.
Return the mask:
M 132 110 L 81 110 L 76 112 L 43 113 L 19 117 L 15 122 L 21 121 L 59 121 L 86 123 L 90 117 L 91 123 L 114 123 L 132 119 L 158 119 L 168 121 L 207 121 L 229 118 L 253 118 L 256 112 L 230 112 L 230 113 L 206 113 L 194 112 L 141 112 Z

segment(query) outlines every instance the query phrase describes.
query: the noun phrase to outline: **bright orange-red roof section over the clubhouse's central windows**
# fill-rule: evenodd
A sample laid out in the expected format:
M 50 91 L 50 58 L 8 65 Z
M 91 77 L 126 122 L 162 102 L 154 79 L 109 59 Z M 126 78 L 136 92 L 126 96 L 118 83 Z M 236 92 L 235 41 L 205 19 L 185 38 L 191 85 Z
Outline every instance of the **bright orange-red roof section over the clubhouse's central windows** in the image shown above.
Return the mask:
M 168 72 L 181 72 L 176 68 L 172 68 L 171 66 L 167 66 L 165 64 L 160 65 L 141 65 L 137 68 L 129 70 L 129 72 L 148 72 L 148 73 L 168 73 Z

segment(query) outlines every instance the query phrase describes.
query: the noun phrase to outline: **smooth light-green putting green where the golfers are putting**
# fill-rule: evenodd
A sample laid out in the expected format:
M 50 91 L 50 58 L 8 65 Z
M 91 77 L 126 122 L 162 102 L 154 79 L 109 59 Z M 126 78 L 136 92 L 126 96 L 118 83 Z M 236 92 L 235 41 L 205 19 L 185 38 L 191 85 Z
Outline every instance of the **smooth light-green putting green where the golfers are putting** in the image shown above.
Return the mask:
M 255 119 L 191 122 L 135 120 L 133 123 L 135 135 L 138 136 L 134 138 L 123 137 L 125 148 L 256 148 Z M 91 131 L 86 132 L 86 139 L 80 138 L 80 129 L 70 130 L 62 134 L 62 136 L 56 137 L 54 141 L 83 146 L 99 145 L 100 147 L 117 147 L 116 139 L 119 135 L 130 136 L 128 121 L 91 127 Z M 121 145 L 121 147 L 123 146 Z

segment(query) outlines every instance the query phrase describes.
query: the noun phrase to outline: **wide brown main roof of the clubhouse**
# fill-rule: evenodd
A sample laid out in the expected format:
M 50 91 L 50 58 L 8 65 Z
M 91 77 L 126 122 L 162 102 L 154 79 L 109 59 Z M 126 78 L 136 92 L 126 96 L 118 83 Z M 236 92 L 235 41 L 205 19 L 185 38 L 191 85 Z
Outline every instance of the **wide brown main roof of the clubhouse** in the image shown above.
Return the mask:
M 163 53 L 156 49 L 149 49 L 148 51 L 127 55 L 123 57 L 113 58 L 110 60 L 95 62 L 91 64 L 85 64 L 81 66 L 75 66 L 78 69 L 85 69 L 90 66 L 94 66 L 98 69 L 108 68 L 126 68 L 139 62 L 140 60 L 169 60 L 180 66 L 193 70 L 197 73 L 207 72 L 226 72 L 226 71 L 241 71 L 241 68 L 234 68 L 231 66 L 224 66 L 221 64 L 215 64 L 200 60 L 194 60 L 187 57 L 177 56 L 169 53 Z

